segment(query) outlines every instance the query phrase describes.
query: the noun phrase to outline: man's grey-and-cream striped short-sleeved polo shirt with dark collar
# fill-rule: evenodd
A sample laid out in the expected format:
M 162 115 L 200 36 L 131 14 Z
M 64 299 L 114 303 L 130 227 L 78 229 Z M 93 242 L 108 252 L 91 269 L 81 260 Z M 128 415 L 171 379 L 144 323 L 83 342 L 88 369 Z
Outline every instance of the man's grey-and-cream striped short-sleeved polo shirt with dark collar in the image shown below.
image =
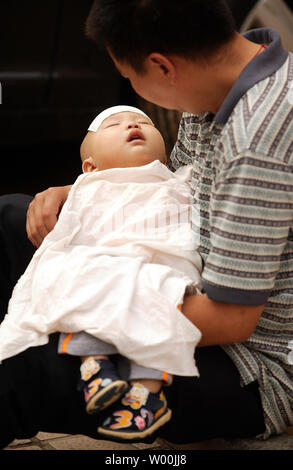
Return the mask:
M 183 113 L 173 169 L 193 165 L 203 289 L 214 301 L 265 304 L 252 336 L 222 346 L 241 384 L 258 380 L 266 430 L 293 424 L 293 54 L 269 28 L 216 115 Z

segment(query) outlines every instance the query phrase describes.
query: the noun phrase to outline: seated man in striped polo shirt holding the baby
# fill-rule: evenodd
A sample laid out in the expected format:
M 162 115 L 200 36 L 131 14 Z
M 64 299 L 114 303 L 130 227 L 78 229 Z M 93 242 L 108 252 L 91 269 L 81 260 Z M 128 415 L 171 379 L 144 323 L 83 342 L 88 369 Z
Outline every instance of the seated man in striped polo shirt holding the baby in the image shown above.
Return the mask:
M 171 162 L 194 166 L 204 291 L 185 298 L 183 313 L 202 332 L 200 378 L 175 379 L 173 419 L 160 435 L 192 442 L 283 432 L 293 423 L 292 57 L 272 30 L 236 33 L 222 0 L 97 0 L 87 34 L 139 95 L 184 112 Z M 50 189 L 31 203 L 27 232 L 35 246 L 54 226 L 68 189 Z M 55 354 L 56 341 L 40 349 L 40 361 Z M 36 352 L 29 354 L 32 370 Z M 54 358 L 60 371 L 62 360 Z M 57 388 L 64 396 L 72 376 L 43 392 L 51 410 Z M 54 413 L 50 426 L 53 420 Z M 78 432 L 89 426 L 80 420 Z M 61 427 L 56 421 L 54 430 Z M 70 420 L 65 428 L 72 432 Z

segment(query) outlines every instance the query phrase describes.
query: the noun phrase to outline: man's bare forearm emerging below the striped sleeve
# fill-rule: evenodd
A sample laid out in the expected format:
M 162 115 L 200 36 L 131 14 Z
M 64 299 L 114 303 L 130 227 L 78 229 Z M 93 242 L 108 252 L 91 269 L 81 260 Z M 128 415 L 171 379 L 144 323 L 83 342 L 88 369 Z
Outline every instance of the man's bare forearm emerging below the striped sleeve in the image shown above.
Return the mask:
M 183 314 L 202 333 L 199 346 L 241 343 L 255 330 L 264 305 L 214 302 L 206 294 L 185 296 Z

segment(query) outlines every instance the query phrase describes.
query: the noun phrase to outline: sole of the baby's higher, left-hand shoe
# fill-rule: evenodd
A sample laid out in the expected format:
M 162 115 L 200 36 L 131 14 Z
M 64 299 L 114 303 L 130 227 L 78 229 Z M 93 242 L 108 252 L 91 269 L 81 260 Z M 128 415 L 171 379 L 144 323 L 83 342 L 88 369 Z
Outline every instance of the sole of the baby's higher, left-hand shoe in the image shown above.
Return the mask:
M 86 412 L 88 414 L 96 414 L 104 410 L 108 406 L 115 403 L 119 398 L 124 395 L 129 389 L 127 382 L 123 380 L 116 380 L 115 382 L 103 388 L 97 395 L 94 395 L 86 405 Z

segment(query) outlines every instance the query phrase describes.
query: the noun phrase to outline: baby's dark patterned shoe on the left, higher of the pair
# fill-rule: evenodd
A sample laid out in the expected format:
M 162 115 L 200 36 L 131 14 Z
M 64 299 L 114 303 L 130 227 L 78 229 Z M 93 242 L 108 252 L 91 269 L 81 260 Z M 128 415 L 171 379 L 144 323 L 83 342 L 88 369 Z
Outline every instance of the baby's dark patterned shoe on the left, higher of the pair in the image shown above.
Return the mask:
M 87 358 L 80 367 L 86 411 L 95 414 L 122 397 L 129 385 L 118 376 L 109 359 Z

